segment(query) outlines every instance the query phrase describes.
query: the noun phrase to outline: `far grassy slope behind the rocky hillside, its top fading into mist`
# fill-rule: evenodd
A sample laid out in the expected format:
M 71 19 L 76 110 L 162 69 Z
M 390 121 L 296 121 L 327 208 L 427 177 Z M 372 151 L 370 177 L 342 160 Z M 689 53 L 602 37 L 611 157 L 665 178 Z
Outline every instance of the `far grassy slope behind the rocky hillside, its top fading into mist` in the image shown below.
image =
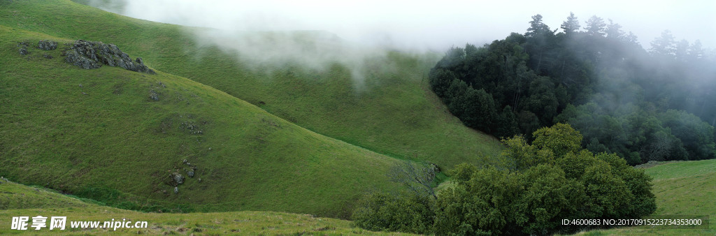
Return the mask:
M 437 56 L 389 53 L 367 63 L 355 91 L 340 65 L 316 72 L 281 67 L 252 70 L 233 54 L 200 43 L 190 28 L 131 19 L 69 0 L 16 1 L 0 9 L 0 24 L 69 39 L 112 42 L 170 74 L 193 79 L 301 127 L 375 152 L 450 168 L 493 154 L 498 142 L 452 117 L 423 81 Z M 261 104 L 265 102 L 265 104 Z

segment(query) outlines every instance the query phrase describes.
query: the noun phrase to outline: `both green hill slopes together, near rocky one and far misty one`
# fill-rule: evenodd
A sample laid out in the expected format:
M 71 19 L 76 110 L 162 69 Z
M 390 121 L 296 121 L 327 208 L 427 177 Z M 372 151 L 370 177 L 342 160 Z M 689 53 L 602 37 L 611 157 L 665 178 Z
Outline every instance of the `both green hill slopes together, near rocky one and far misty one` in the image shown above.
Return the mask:
M 357 91 L 343 64 L 256 69 L 193 29 L 69 0 L 0 1 L 0 174 L 124 209 L 348 217 L 364 192 L 395 189 L 396 158 L 449 169 L 500 149 L 427 89 L 435 55 L 385 51 Z M 18 54 L 39 39 L 116 44 L 158 74 Z M 175 195 L 168 175 L 183 159 L 197 177 Z

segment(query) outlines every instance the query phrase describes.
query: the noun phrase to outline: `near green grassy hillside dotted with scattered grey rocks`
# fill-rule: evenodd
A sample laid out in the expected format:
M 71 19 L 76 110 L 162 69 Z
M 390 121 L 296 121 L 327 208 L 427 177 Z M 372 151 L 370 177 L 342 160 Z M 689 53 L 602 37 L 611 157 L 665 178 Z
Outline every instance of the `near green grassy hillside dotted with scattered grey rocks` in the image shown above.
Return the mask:
M 183 77 L 83 70 L 65 63 L 60 50 L 49 51 L 54 59 L 40 49 L 18 53 L 18 41 L 37 46 L 39 39 L 71 41 L 0 26 L 1 176 L 130 209 L 155 204 L 334 217 L 347 217 L 366 191 L 395 187 L 385 176 L 395 159 Z M 149 98 L 150 89 L 160 101 Z M 166 182 L 173 169 L 185 174 L 183 159 L 198 167 L 197 176 L 175 195 Z

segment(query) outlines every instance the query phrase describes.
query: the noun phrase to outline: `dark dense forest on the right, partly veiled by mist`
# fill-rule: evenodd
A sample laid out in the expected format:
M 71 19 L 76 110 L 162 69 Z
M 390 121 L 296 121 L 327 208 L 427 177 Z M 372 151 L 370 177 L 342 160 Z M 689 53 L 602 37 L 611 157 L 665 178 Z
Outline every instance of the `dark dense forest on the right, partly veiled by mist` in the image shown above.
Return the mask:
M 468 127 L 496 137 L 570 124 L 594 153 L 628 164 L 715 157 L 716 59 L 665 30 L 650 43 L 598 16 L 558 29 L 532 16 L 524 34 L 453 47 L 430 87 Z M 557 32 L 559 29 L 562 31 Z

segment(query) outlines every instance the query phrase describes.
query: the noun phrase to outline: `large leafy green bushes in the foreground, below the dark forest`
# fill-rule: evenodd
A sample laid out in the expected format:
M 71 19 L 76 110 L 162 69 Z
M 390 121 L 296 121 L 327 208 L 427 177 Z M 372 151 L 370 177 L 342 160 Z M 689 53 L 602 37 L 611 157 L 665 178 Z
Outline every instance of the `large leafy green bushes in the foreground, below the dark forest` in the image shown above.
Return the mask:
M 514 160 L 509 168 L 458 164 L 450 172 L 454 185 L 434 203 L 412 201 L 414 209 L 404 203 L 410 198 L 369 196 L 354 213 L 357 224 L 369 230 L 416 225 L 422 231 L 410 232 L 436 235 L 548 235 L 577 230 L 561 225 L 563 219 L 640 218 L 656 210 L 649 176 L 616 154 L 582 149 L 569 124 L 535 137 L 533 144 L 521 136 L 503 139 L 502 156 Z

